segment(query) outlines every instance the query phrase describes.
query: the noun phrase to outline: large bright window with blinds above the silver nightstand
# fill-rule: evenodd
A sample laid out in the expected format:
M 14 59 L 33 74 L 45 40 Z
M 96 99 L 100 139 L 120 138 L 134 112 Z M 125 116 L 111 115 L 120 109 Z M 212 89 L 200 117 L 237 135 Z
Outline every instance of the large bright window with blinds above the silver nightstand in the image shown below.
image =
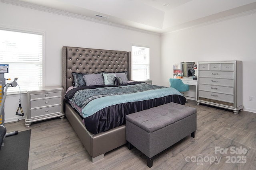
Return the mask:
M 9 64 L 9 73 L 4 77 L 11 78 L 6 83 L 17 77 L 19 85 L 8 88 L 7 93 L 26 92 L 29 88 L 42 86 L 42 39 L 43 33 L 0 28 L 0 63 Z

